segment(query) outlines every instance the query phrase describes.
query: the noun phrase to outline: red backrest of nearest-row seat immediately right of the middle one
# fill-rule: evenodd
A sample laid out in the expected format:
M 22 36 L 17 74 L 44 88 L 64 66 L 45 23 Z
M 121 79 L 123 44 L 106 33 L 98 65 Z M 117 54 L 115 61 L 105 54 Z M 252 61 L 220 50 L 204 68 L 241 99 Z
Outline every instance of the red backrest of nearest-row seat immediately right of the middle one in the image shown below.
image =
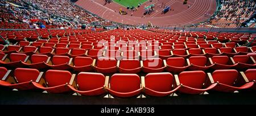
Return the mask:
M 145 86 L 157 92 L 169 92 L 172 90 L 174 77 L 171 73 L 148 73 L 145 77 Z

